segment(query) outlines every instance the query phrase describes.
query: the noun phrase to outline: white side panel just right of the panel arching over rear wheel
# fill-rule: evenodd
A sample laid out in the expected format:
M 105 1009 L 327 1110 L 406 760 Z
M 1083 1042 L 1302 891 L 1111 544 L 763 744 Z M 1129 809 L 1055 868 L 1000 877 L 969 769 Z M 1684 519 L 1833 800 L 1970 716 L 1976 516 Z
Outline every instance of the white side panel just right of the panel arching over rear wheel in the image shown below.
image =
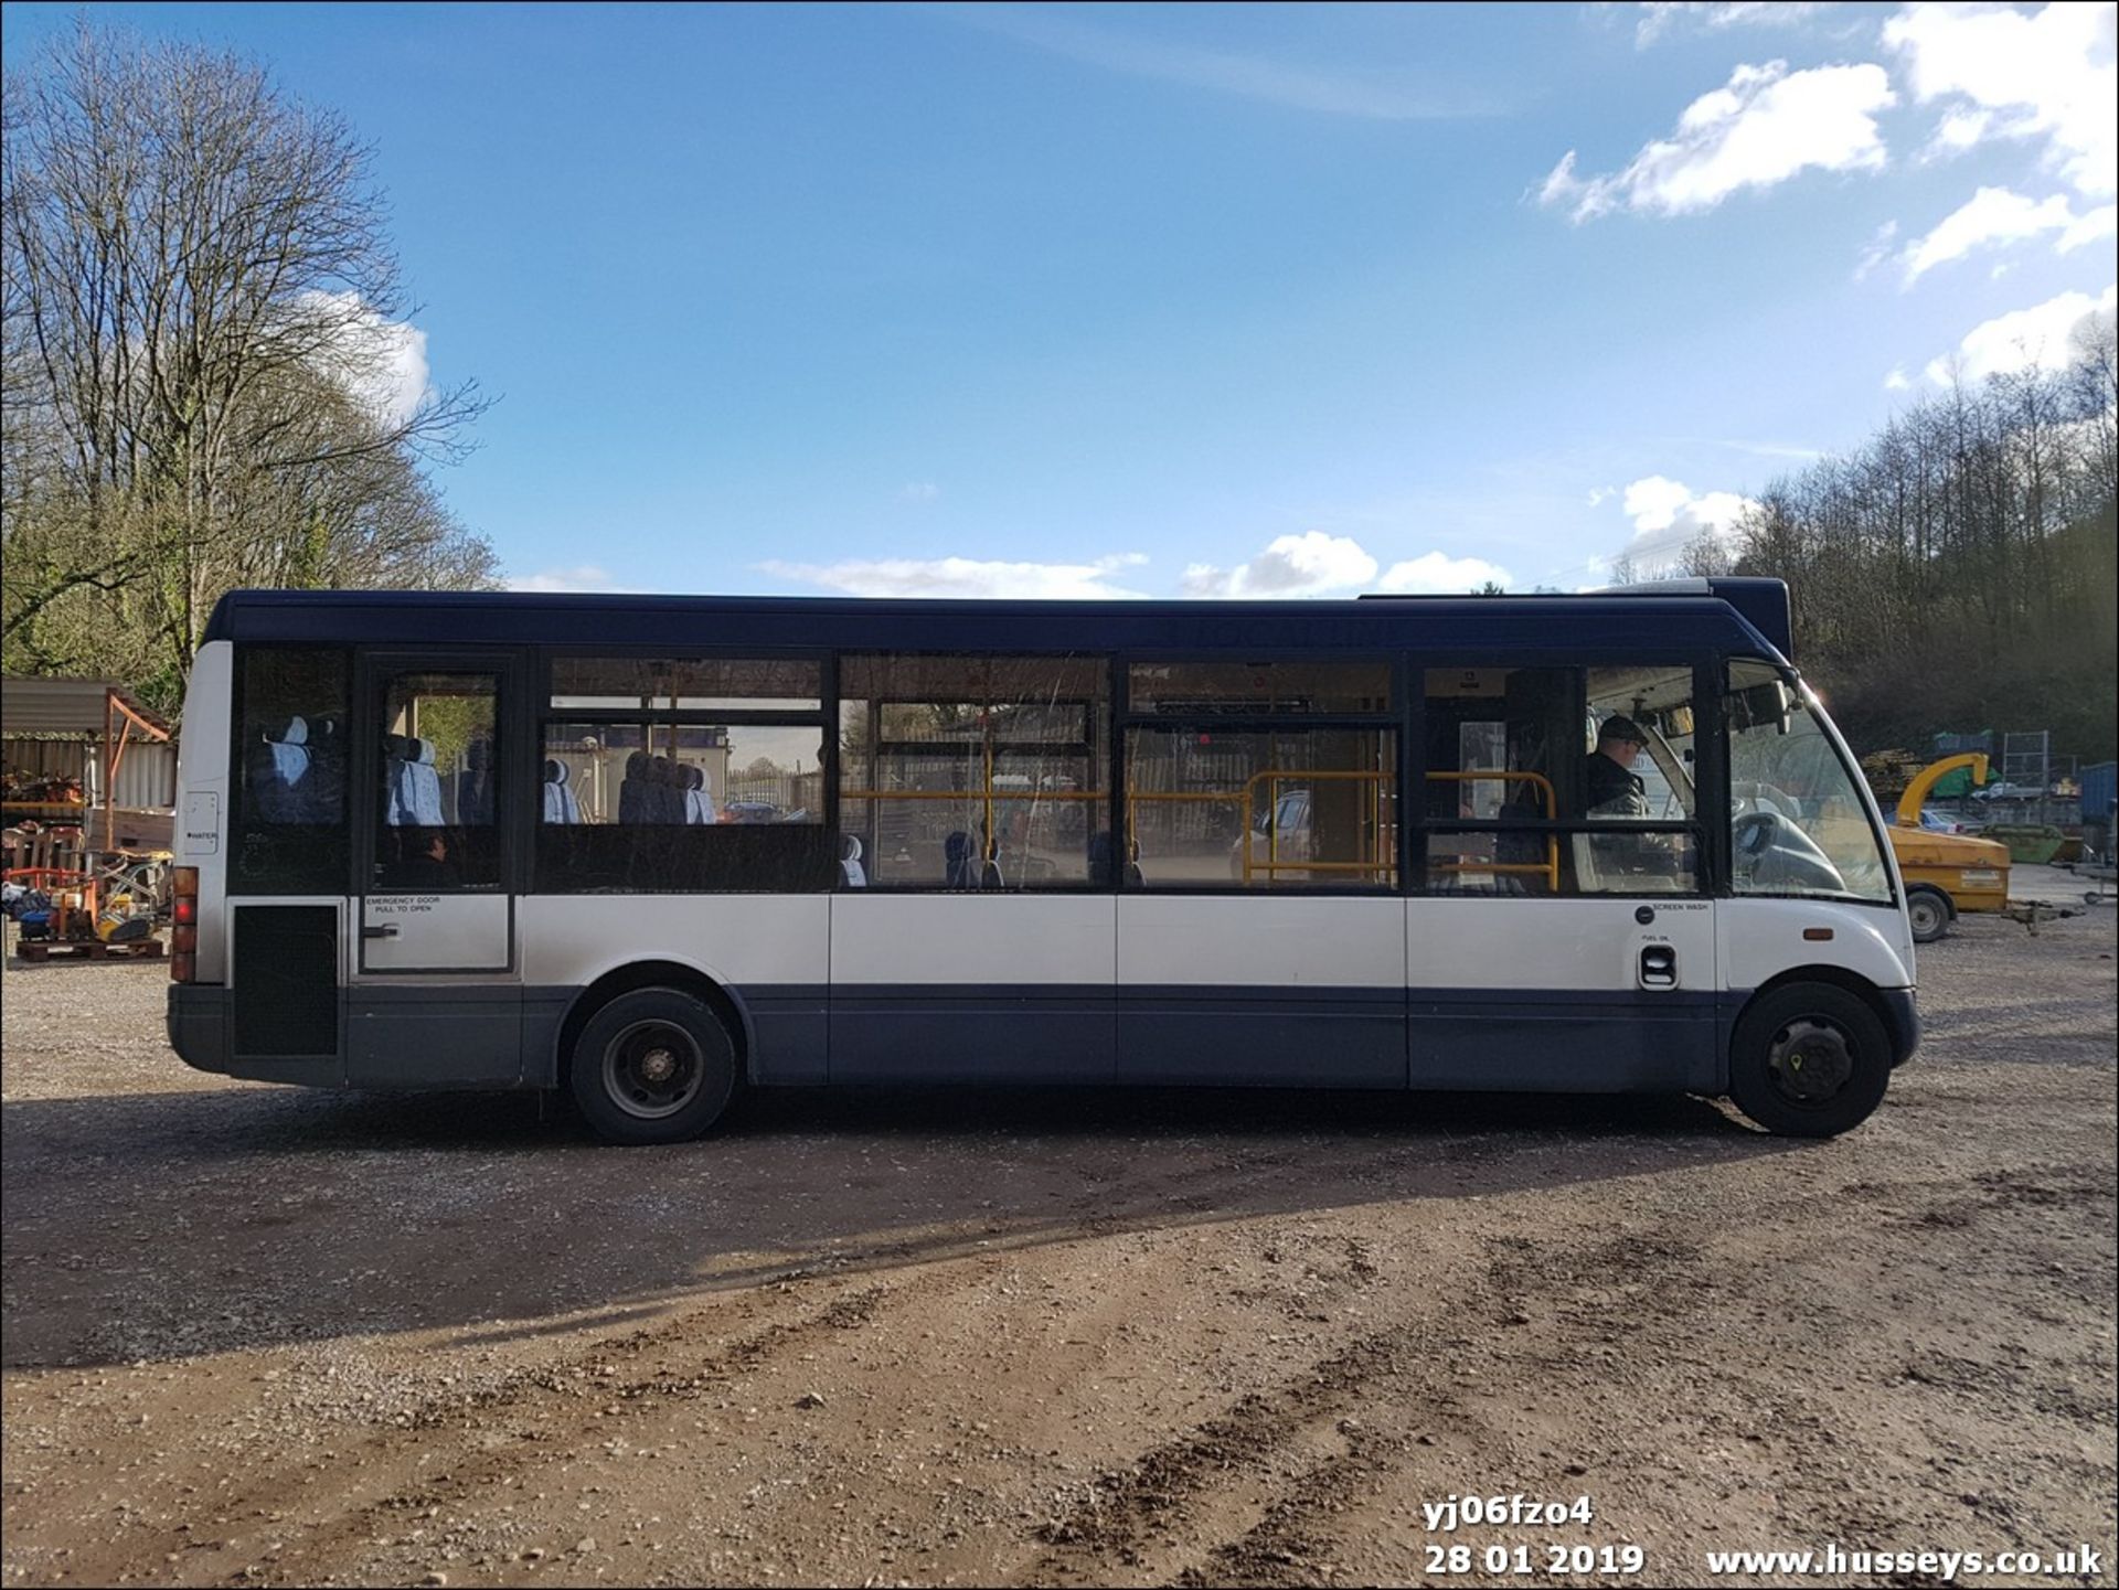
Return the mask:
M 841 893 L 831 982 L 1110 987 L 1117 915 L 1112 896 Z

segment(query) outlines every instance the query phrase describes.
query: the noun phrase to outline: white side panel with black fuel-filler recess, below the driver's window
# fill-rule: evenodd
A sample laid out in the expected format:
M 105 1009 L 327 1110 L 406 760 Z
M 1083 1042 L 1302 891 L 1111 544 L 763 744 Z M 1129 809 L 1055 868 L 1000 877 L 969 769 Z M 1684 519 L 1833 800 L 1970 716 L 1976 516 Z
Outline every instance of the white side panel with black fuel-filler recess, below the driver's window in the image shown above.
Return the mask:
M 1651 910 L 1649 923 L 1638 913 Z M 1640 987 L 1640 951 L 1670 944 L 1674 989 L 1716 982 L 1712 900 L 1670 896 L 1602 900 L 1479 900 L 1439 896 L 1405 902 L 1405 980 L 1413 989 L 1602 991 Z

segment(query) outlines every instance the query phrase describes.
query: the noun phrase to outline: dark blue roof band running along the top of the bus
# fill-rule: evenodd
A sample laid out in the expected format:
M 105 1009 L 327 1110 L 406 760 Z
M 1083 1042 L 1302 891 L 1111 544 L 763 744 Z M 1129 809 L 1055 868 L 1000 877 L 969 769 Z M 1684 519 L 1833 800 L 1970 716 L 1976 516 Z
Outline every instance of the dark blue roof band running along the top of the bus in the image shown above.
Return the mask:
M 1356 601 L 898 601 L 517 591 L 229 591 L 206 639 L 371 646 L 670 646 L 769 650 L 1600 650 L 1778 652 L 1780 580 L 1687 580 L 1583 595 Z

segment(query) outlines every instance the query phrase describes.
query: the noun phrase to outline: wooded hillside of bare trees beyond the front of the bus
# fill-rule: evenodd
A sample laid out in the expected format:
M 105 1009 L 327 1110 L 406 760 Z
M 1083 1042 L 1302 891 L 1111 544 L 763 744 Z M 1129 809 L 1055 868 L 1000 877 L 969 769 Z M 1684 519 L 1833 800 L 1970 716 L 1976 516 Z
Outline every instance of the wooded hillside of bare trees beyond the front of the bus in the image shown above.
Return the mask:
M 1856 749 L 2049 728 L 2055 754 L 2113 756 L 2111 318 L 2070 351 L 1911 406 L 1767 487 L 1733 555 L 1687 553 L 1687 572 L 1788 582 L 1797 656 Z

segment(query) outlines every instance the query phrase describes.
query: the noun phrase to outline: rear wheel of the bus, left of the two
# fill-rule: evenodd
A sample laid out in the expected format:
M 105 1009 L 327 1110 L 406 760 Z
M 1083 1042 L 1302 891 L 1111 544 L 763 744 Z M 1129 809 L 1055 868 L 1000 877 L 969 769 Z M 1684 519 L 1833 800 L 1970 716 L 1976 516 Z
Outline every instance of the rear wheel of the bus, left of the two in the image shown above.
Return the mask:
M 581 1029 L 568 1086 L 608 1143 L 682 1143 L 735 1097 L 735 1042 L 697 995 L 634 989 Z

